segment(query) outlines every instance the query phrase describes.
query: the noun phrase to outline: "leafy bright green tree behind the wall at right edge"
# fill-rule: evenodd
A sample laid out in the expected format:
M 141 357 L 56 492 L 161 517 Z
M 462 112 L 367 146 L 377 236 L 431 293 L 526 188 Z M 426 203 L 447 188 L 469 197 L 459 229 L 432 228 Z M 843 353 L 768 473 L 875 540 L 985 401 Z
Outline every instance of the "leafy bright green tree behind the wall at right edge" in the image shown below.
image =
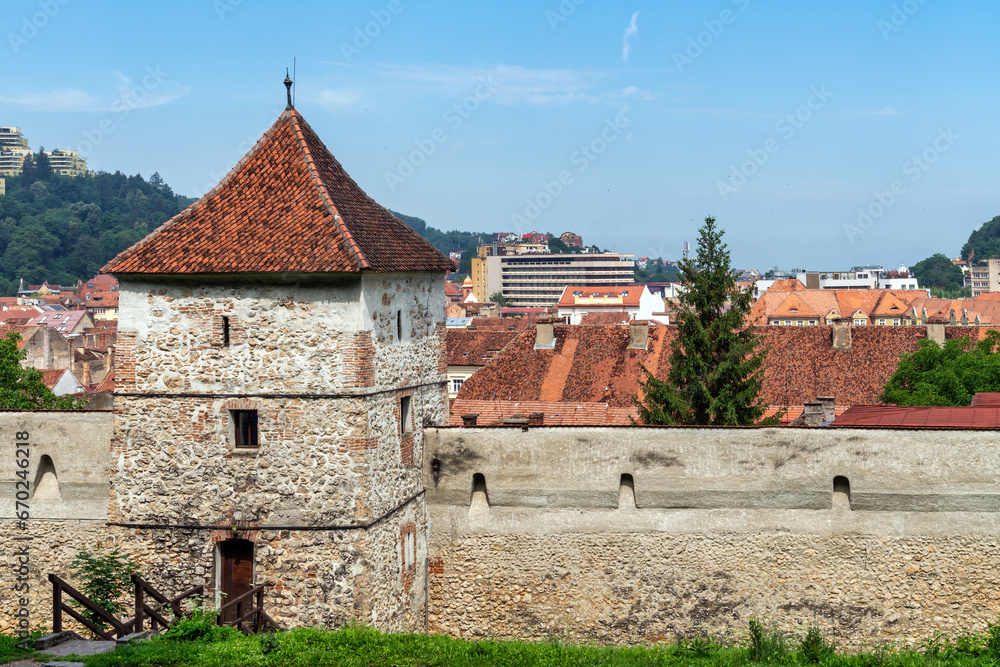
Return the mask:
M 879 397 L 893 405 L 970 405 L 980 391 L 1000 391 L 1000 331 L 987 331 L 975 345 L 968 339 L 928 340 L 899 359 Z

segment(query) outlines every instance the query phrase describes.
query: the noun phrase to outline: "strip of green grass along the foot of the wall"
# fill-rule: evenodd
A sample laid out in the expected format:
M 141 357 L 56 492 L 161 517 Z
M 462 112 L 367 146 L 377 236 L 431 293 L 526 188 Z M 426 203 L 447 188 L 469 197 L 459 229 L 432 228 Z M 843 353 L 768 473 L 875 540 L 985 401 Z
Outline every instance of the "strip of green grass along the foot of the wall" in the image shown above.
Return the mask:
M 187 622 L 150 641 L 83 658 L 87 667 L 994 667 L 1000 664 L 1000 626 L 985 634 L 937 635 L 918 649 L 876 647 L 854 655 L 837 653 L 819 631 L 779 632 L 754 619 L 734 644 L 708 637 L 651 646 L 573 646 L 556 642 L 484 640 L 444 636 L 389 635 L 352 626 L 337 631 L 302 628 L 244 637 L 209 622 Z M 14 640 L 0 638 L 0 662 Z M 20 653 L 17 657 L 23 657 Z

